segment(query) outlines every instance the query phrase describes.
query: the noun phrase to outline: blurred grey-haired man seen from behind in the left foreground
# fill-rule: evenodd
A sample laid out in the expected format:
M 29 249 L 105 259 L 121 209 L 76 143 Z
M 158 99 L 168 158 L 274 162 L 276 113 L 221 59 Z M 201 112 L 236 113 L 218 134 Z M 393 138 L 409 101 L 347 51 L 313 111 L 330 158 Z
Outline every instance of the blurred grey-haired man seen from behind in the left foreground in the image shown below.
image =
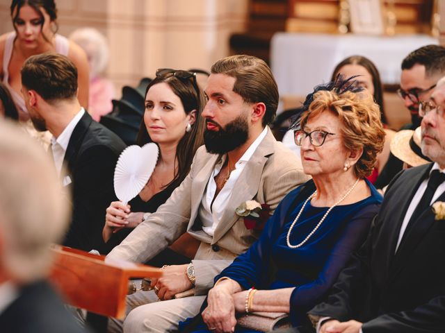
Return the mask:
M 46 282 L 51 243 L 68 225 L 51 160 L 19 126 L 0 121 L 0 332 L 85 332 Z M 65 192 L 65 191 L 63 191 Z

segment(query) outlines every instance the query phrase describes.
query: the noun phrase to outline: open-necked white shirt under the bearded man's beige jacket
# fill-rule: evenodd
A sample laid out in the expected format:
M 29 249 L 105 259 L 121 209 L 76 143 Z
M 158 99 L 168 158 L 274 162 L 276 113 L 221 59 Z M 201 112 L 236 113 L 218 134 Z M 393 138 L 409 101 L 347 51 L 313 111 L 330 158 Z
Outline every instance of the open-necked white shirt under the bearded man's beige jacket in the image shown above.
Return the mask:
M 239 176 L 244 170 L 245 164 L 249 162 L 250 157 L 257 150 L 259 144 L 263 141 L 264 137 L 266 137 L 268 128 L 264 128 L 261 134 L 255 139 L 255 141 L 250 145 L 247 151 L 241 156 L 241 158 L 236 162 L 235 169 L 230 173 L 229 179 L 223 186 L 223 189 L 218 193 L 215 200 L 216 193 L 216 182 L 215 177 L 220 172 L 223 167 L 225 160 L 227 158 L 227 154 L 223 155 L 220 158 L 219 162 L 215 164 L 215 168 L 210 175 L 209 182 L 207 183 L 206 190 L 204 191 L 204 195 L 202 196 L 201 206 L 199 210 L 200 219 L 202 221 L 202 230 L 213 237 L 213 233 L 215 232 L 218 223 L 223 217 L 223 213 L 225 210 L 225 206 L 229 201 L 230 196 L 232 196 L 232 191 L 235 187 L 236 180 L 238 180 Z M 212 205 L 213 200 L 213 205 Z M 240 203 L 241 204 L 241 203 Z

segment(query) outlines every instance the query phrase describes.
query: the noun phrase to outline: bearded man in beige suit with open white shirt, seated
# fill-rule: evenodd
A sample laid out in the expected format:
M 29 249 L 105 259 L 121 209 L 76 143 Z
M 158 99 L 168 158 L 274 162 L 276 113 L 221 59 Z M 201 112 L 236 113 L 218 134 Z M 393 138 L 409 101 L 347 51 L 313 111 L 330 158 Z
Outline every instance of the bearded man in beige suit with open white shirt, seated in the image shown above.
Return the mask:
M 134 309 L 124 321 L 124 332 L 170 332 L 179 321 L 195 316 L 213 278 L 259 237 L 259 230 L 246 228 L 236 207 L 257 200 L 269 205 L 272 214 L 291 189 L 308 180 L 300 160 L 268 128 L 278 91 L 263 60 L 218 60 L 204 92 L 205 147 L 195 154 L 190 173 L 108 257 L 145 262 L 184 232 L 201 244 L 191 264 L 165 267 L 163 277 L 152 281 L 154 290 L 129 296 Z M 193 296 L 172 299 L 193 287 Z M 109 326 L 116 328 L 115 323 Z

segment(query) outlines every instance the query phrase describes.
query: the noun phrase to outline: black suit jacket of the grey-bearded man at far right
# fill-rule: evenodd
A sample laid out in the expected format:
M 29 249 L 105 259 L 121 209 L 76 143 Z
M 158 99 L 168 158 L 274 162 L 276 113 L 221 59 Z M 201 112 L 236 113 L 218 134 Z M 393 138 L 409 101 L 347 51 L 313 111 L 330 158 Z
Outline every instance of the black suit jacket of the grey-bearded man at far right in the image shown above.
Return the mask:
M 310 314 L 361 321 L 364 333 L 445 332 L 445 220 L 426 210 L 396 252 L 407 208 L 431 167 L 403 171 L 391 182 L 366 243 Z

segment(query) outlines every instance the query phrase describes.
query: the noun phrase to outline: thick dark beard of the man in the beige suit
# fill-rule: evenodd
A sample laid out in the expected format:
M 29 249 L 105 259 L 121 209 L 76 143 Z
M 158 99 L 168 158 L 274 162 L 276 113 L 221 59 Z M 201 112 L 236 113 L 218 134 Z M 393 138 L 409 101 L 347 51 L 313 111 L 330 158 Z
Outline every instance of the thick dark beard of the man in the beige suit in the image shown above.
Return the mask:
M 249 124 L 246 117 L 237 117 L 227 123 L 224 129 L 219 124 L 211 122 L 220 129 L 218 131 L 207 129 L 204 131 L 204 144 L 209 153 L 225 154 L 248 141 Z

